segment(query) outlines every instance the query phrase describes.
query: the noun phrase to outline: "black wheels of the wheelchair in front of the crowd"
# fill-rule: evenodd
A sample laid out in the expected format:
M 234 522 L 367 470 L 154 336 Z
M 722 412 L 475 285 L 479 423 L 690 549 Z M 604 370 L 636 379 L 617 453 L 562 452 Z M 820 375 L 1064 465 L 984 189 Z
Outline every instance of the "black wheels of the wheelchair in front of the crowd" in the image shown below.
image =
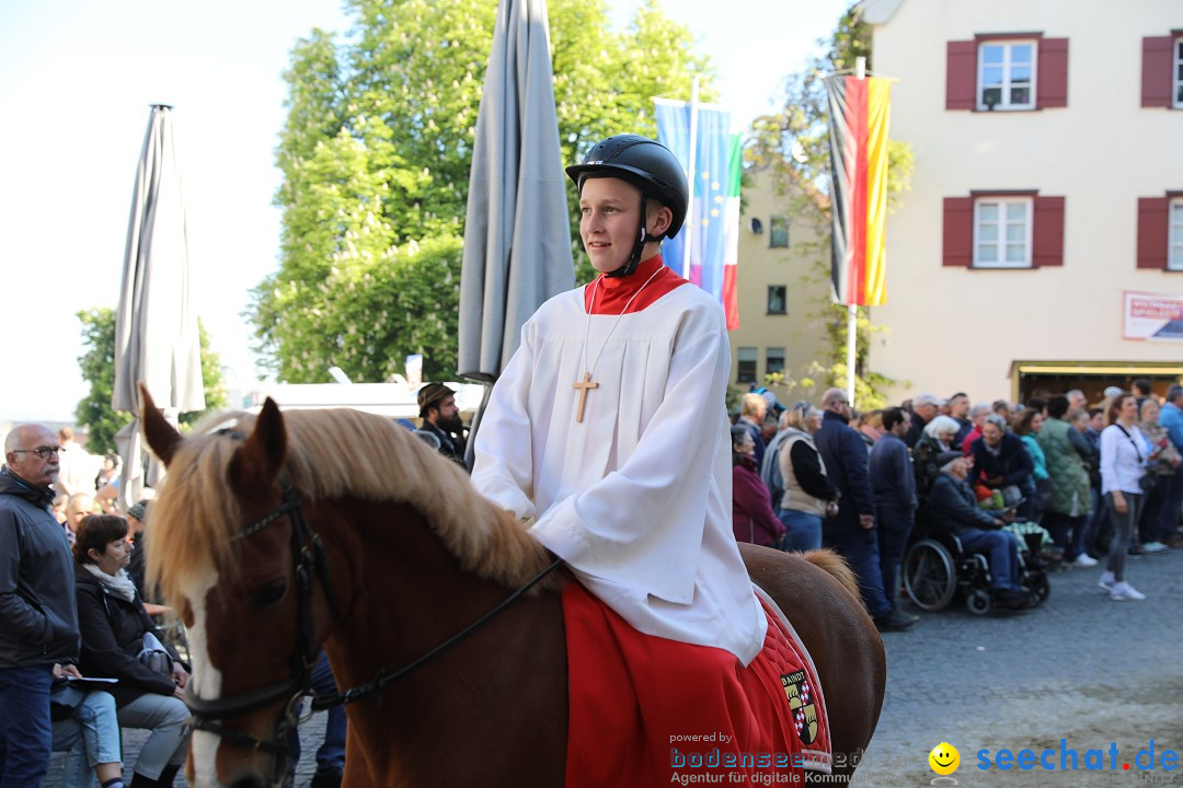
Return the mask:
M 1042 605 L 1052 593 L 1047 566 L 1039 558 L 1039 533 L 1020 539 L 1019 584 L 1029 594 L 1032 607 Z M 994 610 L 990 565 L 985 555 L 967 551 L 961 539 L 948 528 L 917 527 L 904 554 L 904 590 L 923 611 L 944 610 L 955 599 L 963 599 L 975 616 Z

